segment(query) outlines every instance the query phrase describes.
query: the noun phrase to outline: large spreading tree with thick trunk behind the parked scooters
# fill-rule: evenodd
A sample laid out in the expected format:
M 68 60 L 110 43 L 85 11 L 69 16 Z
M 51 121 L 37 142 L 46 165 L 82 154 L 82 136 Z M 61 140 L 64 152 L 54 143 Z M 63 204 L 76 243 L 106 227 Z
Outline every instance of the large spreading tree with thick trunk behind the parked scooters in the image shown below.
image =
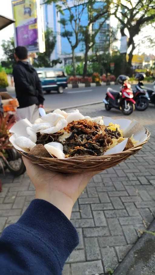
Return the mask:
M 155 21 L 155 0 L 114 0 L 113 8 L 114 15 L 121 24 L 121 35 L 125 36 L 125 30 L 128 31 L 127 46 L 130 48 L 128 60 L 130 69 L 135 49 L 134 37 L 140 33 L 145 24 Z

